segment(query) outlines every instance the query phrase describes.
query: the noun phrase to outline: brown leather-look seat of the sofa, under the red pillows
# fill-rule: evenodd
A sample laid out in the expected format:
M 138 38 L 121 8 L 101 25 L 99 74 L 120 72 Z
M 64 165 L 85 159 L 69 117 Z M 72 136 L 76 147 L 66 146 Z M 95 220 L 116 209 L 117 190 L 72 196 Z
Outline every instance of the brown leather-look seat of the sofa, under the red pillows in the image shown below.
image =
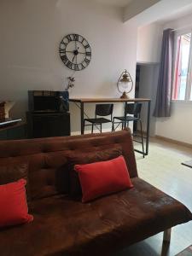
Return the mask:
M 32 223 L 1 230 L 2 255 L 111 255 L 192 219 L 169 195 L 138 177 L 131 182 L 133 189 L 87 204 L 65 195 L 34 201 Z

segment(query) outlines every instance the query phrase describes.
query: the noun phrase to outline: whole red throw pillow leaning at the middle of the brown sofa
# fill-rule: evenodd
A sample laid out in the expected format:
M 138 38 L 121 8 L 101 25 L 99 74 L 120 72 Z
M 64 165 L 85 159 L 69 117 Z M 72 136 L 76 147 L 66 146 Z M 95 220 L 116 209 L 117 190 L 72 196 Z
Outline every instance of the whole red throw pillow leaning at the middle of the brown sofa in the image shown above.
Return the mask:
M 79 173 L 82 202 L 133 187 L 122 155 L 102 162 L 74 166 Z

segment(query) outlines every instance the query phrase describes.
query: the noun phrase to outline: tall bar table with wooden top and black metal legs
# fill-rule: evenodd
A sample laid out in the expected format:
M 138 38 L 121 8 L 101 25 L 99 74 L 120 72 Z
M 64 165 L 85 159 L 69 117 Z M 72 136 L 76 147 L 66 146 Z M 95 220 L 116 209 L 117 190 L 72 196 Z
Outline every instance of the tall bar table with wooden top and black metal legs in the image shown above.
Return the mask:
M 84 134 L 84 103 L 113 103 L 121 102 L 128 104 L 129 102 L 146 102 L 148 103 L 148 116 L 147 116 L 147 136 L 146 136 L 146 147 L 145 155 L 148 155 L 148 140 L 149 140 L 149 124 L 150 124 L 150 103 L 151 100 L 147 98 L 132 98 L 132 99 L 120 99 L 120 98 L 73 98 L 69 99 L 69 102 L 79 102 L 80 103 L 80 112 L 81 112 L 81 134 Z M 124 108 L 125 109 L 125 108 Z M 126 117 L 126 113 L 124 113 Z M 136 150 L 136 149 L 135 149 Z M 142 153 L 140 150 L 136 150 L 139 153 Z

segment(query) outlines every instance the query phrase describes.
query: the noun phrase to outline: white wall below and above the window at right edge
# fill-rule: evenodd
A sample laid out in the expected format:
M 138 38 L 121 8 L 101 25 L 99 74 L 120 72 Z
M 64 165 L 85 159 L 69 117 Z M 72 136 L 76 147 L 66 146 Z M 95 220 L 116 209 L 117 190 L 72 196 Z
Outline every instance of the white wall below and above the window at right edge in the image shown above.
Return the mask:
M 192 15 L 173 20 L 165 28 L 174 29 L 192 27 Z M 158 118 L 156 121 L 156 135 L 168 137 L 183 143 L 192 144 L 192 102 L 172 102 L 172 116 Z

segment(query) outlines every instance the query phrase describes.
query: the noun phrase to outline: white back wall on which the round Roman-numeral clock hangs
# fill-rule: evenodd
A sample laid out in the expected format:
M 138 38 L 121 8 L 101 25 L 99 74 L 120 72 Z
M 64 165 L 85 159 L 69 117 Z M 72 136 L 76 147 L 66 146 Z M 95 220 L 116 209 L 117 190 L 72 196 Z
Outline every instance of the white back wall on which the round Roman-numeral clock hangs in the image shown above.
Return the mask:
M 27 90 L 62 90 L 73 72 L 61 62 L 58 47 L 68 33 L 90 43 L 92 60 L 75 73 L 71 97 L 119 96 L 116 82 L 127 68 L 135 81 L 137 27 L 122 23 L 120 9 L 90 0 L 1 0 L 0 100 L 14 100 L 14 117 L 24 117 Z M 132 91 L 132 95 L 134 91 Z M 88 114 L 95 106 L 87 106 Z M 115 108 L 119 114 L 122 106 Z M 70 106 L 72 131 L 79 131 L 79 109 Z

